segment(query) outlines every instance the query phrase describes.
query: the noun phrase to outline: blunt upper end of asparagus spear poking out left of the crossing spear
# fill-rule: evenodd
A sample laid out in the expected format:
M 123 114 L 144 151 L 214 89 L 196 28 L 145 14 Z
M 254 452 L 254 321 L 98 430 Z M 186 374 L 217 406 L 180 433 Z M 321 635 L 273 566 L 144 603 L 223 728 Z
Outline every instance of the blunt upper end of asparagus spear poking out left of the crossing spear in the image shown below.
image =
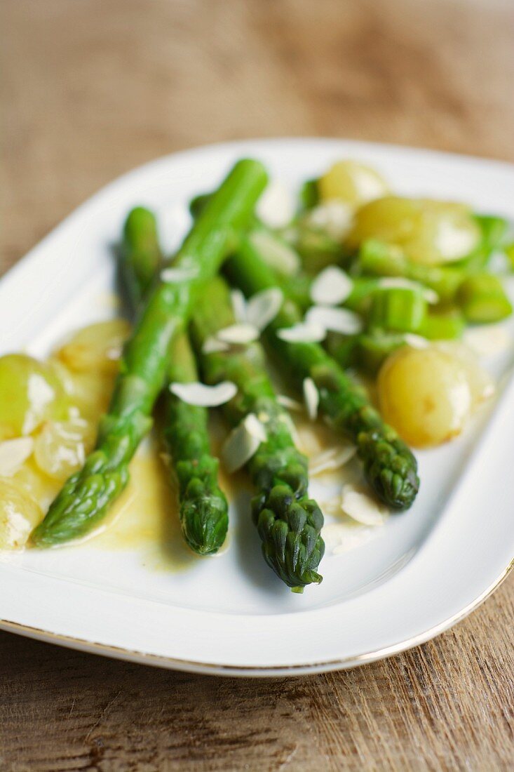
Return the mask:
M 154 281 L 161 260 L 155 215 L 137 206 L 127 215 L 120 247 L 121 276 L 134 310 Z

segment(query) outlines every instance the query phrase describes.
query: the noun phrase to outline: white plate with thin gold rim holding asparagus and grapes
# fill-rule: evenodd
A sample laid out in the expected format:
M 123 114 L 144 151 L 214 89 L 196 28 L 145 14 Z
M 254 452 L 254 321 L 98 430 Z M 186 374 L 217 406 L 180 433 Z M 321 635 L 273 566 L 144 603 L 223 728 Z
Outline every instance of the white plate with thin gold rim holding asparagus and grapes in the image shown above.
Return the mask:
M 105 317 L 110 245 L 130 206 L 187 227 L 185 203 L 242 156 L 295 187 L 330 161 L 376 166 L 395 191 L 468 201 L 514 219 L 508 164 L 338 140 L 249 141 L 164 157 L 87 201 L 0 284 L 2 353 L 45 354 L 70 328 Z M 506 372 L 512 350 L 492 363 Z M 400 652 L 448 628 L 499 584 L 514 555 L 514 386 L 487 422 L 418 453 L 414 507 L 343 557 L 323 560 L 323 584 L 292 594 L 265 566 L 245 506 L 230 547 L 188 571 L 150 571 L 139 553 L 94 542 L 0 558 L 5 629 L 137 662 L 230 675 L 340 669 Z M 484 429 L 484 425 L 487 423 Z M 316 491 L 315 491 L 316 493 Z

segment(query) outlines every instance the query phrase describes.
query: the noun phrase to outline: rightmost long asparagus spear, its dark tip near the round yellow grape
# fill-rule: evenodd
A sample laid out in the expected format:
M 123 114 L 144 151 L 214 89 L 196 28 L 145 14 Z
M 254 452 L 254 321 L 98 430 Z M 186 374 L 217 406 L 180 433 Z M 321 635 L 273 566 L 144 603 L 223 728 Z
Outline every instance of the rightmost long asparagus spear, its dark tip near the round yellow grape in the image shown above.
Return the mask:
M 232 282 L 246 295 L 276 286 L 272 269 L 255 256 L 255 250 L 247 252 L 245 244 L 242 239 L 238 254 L 225 264 Z M 296 388 L 302 388 L 305 378 L 313 379 L 320 394 L 320 411 L 355 442 L 364 476 L 377 496 L 393 509 L 407 509 L 419 487 L 414 455 L 320 344 L 289 343 L 277 334 L 300 320 L 298 306 L 286 296 L 279 314 L 265 330 L 271 349 Z

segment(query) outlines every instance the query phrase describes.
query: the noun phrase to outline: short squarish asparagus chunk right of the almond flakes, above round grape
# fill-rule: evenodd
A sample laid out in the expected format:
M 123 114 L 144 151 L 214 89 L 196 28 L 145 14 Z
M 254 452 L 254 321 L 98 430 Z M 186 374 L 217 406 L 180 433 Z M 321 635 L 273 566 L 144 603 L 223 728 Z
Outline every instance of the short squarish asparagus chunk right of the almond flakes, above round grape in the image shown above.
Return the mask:
M 371 298 L 368 327 L 370 330 L 415 333 L 426 315 L 427 301 L 421 289 L 377 289 Z

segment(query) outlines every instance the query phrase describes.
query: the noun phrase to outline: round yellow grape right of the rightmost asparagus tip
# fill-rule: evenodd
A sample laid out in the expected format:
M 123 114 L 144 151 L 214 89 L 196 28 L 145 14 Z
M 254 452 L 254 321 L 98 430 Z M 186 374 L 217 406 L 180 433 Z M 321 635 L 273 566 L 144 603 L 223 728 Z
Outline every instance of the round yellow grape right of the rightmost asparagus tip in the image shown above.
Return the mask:
M 387 357 L 378 375 L 384 420 L 409 445 L 440 445 L 458 435 L 472 409 L 466 368 L 437 347 L 404 346 Z

